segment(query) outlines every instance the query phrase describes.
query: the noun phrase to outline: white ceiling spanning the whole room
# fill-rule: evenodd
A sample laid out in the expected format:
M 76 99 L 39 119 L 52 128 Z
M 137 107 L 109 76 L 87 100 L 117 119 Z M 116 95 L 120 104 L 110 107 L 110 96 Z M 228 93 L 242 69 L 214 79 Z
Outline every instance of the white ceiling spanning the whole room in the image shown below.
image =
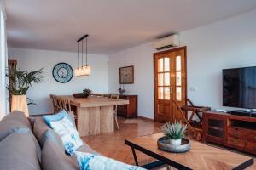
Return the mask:
M 255 0 L 6 0 L 10 47 L 111 54 L 256 8 Z

